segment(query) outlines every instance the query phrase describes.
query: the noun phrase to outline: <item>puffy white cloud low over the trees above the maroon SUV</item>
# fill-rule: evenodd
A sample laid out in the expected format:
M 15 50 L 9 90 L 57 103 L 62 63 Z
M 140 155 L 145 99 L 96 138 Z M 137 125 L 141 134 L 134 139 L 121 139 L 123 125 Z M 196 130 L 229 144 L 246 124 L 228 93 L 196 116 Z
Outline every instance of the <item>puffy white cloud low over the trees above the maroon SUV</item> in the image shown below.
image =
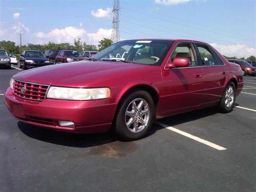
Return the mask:
M 86 30 L 84 29 L 78 29 L 76 27 L 66 27 L 64 29 L 54 29 L 51 30 L 48 33 L 43 33 L 43 32 L 37 32 L 34 33 L 34 40 L 36 41 L 35 43 L 40 43 L 44 44 L 48 41 L 52 41 L 55 43 L 74 43 L 74 38 L 78 37 L 83 37 L 86 35 Z

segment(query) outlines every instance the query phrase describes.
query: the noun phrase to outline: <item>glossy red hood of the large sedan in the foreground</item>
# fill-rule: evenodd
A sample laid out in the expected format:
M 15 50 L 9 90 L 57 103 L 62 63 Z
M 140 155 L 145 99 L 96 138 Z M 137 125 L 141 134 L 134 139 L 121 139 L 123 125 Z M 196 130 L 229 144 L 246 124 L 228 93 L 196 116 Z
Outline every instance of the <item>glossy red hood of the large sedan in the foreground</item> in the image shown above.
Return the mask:
M 150 66 L 109 61 L 82 61 L 34 68 L 20 72 L 13 78 L 55 86 L 107 86 L 104 82 L 111 79 L 118 80 L 118 78 L 132 74 L 132 70 L 146 67 Z

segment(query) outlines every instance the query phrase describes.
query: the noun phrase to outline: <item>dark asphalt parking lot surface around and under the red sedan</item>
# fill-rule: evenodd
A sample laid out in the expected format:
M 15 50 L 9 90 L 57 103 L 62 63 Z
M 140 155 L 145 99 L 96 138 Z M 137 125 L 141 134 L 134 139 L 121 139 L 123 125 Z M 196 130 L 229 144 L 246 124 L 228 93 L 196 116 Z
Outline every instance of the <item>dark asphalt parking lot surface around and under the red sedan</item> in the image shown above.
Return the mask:
M 256 77 L 244 77 L 228 114 L 207 108 L 163 118 L 146 138 L 120 142 L 13 118 L 2 94 L 21 71 L 14 67 L 0 69 L 1 192 L 256 190 Z

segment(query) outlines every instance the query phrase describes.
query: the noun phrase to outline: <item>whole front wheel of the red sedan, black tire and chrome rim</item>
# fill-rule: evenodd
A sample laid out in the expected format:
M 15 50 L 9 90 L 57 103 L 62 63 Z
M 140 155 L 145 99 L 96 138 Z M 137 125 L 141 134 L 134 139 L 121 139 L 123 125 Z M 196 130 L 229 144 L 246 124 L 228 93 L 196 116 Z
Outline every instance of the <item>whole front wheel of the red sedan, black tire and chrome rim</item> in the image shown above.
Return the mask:
M 121 101 L 114 120 L 116 134 L 124 140 L 137 140 L 150 130 L 155 115 L 154 101 L 144 90 L 136 90 Z

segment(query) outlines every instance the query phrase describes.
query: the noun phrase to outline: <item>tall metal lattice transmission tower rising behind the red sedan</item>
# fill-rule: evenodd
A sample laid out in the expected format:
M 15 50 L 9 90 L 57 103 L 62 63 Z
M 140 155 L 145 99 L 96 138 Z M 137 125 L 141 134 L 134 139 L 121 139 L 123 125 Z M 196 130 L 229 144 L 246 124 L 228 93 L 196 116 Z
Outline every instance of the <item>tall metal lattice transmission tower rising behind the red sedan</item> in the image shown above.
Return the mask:
M 111 34 L 111 40 L 114 43 L 120 41 L 120 35 L 119 35 L 119 0 L 114 0 L 114 7 L 113 7 L 113 22 L 112 22 L 112 34 Z

